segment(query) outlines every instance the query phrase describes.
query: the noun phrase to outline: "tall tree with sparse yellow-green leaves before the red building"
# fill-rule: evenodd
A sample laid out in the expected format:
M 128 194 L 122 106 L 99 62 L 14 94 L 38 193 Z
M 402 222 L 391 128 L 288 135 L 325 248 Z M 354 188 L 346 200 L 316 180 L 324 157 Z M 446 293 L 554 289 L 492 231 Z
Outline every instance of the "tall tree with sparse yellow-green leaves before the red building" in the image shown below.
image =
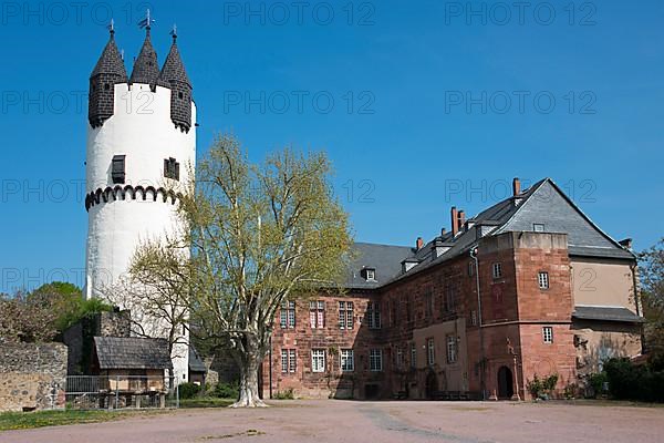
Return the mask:
M 321 153 L 282 150 L 251 163 L 234 136 L 218 136 L 199 163 L 179 214 L 189 229 L 195 330 L 230 350 L 240 369 L 234 406 L 263 406 L 258 371 L 281 302 L 336 288 L 351 245 L 347 215 Z M 146 248 L 146 251 L 149 249 Z M 174 265 L 176 264 L 176 265 Z

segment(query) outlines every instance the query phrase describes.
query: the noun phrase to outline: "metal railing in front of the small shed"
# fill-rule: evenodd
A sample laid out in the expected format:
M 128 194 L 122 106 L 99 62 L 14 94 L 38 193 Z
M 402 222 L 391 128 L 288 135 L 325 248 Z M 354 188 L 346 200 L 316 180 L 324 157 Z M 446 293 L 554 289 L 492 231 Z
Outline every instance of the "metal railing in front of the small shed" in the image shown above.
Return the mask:
M 65 383 L 68 409 L 179 408 L 173 377 L 70 375 Z

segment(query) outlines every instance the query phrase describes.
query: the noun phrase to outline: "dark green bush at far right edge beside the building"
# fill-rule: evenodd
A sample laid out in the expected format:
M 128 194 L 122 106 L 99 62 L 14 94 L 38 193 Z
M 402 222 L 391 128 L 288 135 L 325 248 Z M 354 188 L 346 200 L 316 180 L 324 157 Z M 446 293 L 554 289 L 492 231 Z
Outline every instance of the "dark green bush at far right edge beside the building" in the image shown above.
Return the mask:
M 604 371 L 614 399 L 664 402 L 664 371 L 634 365 L 629 359 L 611 359 Z

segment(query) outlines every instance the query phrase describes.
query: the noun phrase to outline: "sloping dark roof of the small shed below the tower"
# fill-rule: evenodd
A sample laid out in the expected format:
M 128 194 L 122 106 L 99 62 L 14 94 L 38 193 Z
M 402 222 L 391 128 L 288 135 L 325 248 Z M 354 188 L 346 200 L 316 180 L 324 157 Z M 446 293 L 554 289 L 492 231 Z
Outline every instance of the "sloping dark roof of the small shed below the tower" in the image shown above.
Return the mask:
M 100 369 L 172 369 L 168 342 L 135 337 L 95 337 Z

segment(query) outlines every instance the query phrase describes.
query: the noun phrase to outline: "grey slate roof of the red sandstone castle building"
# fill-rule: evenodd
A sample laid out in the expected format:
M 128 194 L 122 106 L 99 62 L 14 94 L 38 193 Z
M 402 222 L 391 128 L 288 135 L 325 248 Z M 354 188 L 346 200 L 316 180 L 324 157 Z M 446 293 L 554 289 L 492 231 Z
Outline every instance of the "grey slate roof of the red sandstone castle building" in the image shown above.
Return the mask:
M 544 225 L 547 233 L 567 234 L 569 254 L 572 256 L 635 259 L 630 250 L 603 233 L 583 214 L 551 178 L 543 178 L 518 196 L 510 196 L 469 218 L 467 228 L 461 229 L 456 237 L 452 233 L 446 233 L 428 241 L 419 250 L 407 247 L 359 244 L 361 251 L 366 250 L 366 259 L 353 265 L 353 275 L 351 276 L 353 285 L 350 287 L 373 288 L 406 278 L 450 258 L 468 254 L 483 236 L 507 231 L 532 231 L 533 224 L 538 223 Z M 448 249 L 443 255 L 433 258 L 432 248 L 436 243 Z M 408 249 L 412 254 L 403 256 Z M 419 261 L 419 265 L 404 274 L 401 269 L 401 261 L 404 259 Z M 390 260 L 393 262 L 388 262 Z M 361 269 L 359 265 L 369 266 L 372 261 L 380 262 L 383 268 L 381 278 L 377 278 L 378 267 L 374 266 L 376 267 L 376 282 L 364 281 L 359 275 Z M 392 274 L 388 281 L 385 281 L 385 274 Z

